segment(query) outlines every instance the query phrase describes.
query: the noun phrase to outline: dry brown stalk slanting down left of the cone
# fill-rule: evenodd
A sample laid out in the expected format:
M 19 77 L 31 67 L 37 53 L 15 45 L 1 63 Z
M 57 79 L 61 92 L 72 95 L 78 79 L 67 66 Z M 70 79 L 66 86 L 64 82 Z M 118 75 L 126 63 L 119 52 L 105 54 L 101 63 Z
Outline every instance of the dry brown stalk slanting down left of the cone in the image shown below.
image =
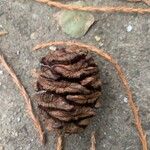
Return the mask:
M 7 72 L 10 74 L 10 76 L 12 77 L 14 83 L 17 85 L 17 87 L 20 90 L 20 93 L 22 94 L 25 103 L 26 103 L 26 109 L 28 112 L 29 117 L 33 120 L 33 123 L 35 125 L 35 128 L 37 129 L 37 131 L 39 132 L 39 136 L 40 136 L 40 140 L 42 143 L 45 143 L 45 135 L 41 126 L 41 123 L 39 121 L 39 119 L 35 116 L 34 112 L 33 112 L 33 107 L 32 107 L 32 102 L 31 99 L 26 91 L 26 89 L 24 88 L 23 84 L 21 83 L 21 81 L 18 79 L 18 77 L 16 76 L 14 70 L 9 66 L 9 64 L 6 62 L 6 60 L 4 59 L 4 56 L 0 54 L 0 63 L 4 66 L 4 68 L 7 70 Z

